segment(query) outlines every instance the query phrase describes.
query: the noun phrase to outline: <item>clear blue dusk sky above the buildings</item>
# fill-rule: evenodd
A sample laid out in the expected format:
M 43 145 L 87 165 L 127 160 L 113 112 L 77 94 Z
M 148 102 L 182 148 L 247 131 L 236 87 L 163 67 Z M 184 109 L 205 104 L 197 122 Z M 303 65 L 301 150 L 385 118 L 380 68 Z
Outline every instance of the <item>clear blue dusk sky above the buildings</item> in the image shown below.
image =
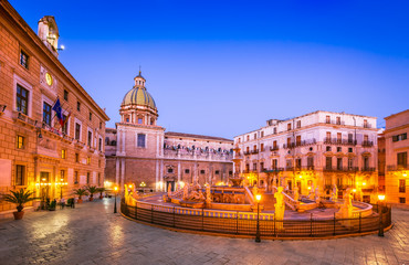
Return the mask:
M 115 127 L 139 65 L 168 131 L 232 138 L 315 110 L 409 106 L 409 1 L 22 1 Z

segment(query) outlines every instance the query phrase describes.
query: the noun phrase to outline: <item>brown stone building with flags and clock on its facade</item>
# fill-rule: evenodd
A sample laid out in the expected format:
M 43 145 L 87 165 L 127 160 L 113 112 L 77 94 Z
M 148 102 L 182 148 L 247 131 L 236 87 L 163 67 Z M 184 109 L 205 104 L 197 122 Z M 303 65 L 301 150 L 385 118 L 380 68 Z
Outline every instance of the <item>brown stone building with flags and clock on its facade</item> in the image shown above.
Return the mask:
M 108 117 L 59 61 L 54 18 L 42 18 L 38 33 L 0 1 L 0 192 L 53 199 L 103 186 Z M 0 202 L 0 211 L 14 208 Z

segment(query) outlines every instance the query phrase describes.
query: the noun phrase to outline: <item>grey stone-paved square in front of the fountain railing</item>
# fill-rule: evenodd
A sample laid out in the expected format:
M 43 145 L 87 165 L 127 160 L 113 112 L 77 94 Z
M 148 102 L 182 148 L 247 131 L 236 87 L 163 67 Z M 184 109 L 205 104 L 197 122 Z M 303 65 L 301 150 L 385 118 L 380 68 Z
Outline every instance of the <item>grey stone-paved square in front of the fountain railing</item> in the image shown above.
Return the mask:
M 113 213 L 113 200 L 0 221 L 0 264 L 407 264 L 409 211 L 385 237 L 266 241 L 172 232 Z

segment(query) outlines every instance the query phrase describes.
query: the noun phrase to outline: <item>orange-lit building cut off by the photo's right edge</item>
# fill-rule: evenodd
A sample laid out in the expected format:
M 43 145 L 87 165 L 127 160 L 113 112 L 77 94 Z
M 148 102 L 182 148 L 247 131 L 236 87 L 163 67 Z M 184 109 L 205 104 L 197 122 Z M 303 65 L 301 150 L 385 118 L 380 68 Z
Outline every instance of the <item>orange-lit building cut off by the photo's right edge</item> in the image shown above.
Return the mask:
M 385 118 L 386 200 L 409 204 L 409 109 Z

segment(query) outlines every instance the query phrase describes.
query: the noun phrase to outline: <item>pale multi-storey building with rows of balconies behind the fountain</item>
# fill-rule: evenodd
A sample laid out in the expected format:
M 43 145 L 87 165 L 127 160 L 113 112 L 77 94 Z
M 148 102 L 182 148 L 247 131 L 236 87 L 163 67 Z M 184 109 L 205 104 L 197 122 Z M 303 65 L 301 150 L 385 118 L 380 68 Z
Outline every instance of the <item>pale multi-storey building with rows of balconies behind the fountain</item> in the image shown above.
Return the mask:
M 318 186 L 338 195 L 347 188 L 369 201 L 377 191 L 377 119 L 345 113 L 314 112 L 300 117 L 270 119 L 266 126 L 234 137 L 241 149 L 240 173 L 249 184 L 277 184 L 307 194 Z M 358 194 L 359 193 L 359 194 Z

